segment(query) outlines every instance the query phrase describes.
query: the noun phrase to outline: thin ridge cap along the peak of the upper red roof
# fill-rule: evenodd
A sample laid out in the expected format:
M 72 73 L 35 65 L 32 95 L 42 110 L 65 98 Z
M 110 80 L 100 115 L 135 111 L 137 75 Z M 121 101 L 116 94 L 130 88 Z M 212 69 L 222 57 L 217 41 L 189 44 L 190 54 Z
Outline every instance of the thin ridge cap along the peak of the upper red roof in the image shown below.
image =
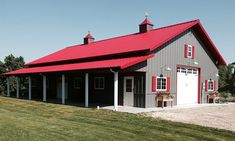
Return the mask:
M 168 28 L 168 27 L 172 27 L 172 26 L 177 26 L 177 25 L 182 25 L 182 24 L 187 24 L 187 23 L 190 23 L 190 22 L 196 22 L 196 21 L 200 21 L 199 19 L 196 19 L 196 20 L 191 20 L 191 21 L 187 21 L 187 22 L 183 22 L 183 23 L 177 23 L 177 24 L 172 24 L 172 25 L 169 25 L 169 26 L 164 26 L 164 27 L 159 27 L 159 28 L 155 28 L 151 31 L 148 31 L 148 32 L 152 32 L 152 31 L 156 31 L 156 30 L 159 30 L 159 29 L 164 29 L 164 28 Z M 146 32 L 146 33 L 148 33 Z M 112 40 L 112 39 L 117 39 L 117 38 L 123 38 L 123 37 L 126 37 L 126 36 L 130 36 L 130 35 L 137 35 L 139 34 L 139 32 L 136 32 L 136 33 L 131 33 L 131 34 L 127 34 L 127 35 L 121 35 L 121 36 L 117 36 L 117 37 L 112 37 L 112 38 L 107 38 L 107 39 L 102 39 L 102 40 L 98 40 L 98 41 L 94 41 L 90 44 L 94 44 L 94 43 L 97 43 L 97 42 L 103 42 L 103 41 L 107 41 L 107 40 Z M 141 34 L 144 34 L 144 33 L 141 33 Z M 90 45 L 89 44 L 89 45 Z M 72 48 L 72 47 L 78 47 L 78 46 L 85 46 L 84 44 L 78 44 L 78 45 L 72 45 L 72 46 L 68 46 L 68 47 L 65 47 L 65 48 Z M 65 49 L 64 48 L 64 49 Z

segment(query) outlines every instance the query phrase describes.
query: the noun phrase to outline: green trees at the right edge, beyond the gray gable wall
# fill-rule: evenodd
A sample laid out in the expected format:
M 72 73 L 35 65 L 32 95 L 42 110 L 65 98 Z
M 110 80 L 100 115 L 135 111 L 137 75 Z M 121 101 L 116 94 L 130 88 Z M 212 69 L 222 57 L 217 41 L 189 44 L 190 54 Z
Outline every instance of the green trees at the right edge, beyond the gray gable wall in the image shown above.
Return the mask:
M 235 95 L 235 73 L 234 65 L 222 66 L 219 68 L 219 92 L 229 92 Z

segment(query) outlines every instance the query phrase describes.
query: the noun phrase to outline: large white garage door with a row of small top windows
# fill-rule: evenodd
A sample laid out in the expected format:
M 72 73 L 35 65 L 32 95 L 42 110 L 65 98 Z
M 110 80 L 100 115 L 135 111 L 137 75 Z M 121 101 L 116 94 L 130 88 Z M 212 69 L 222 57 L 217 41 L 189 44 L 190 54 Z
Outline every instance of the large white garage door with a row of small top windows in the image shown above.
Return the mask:
M 177 105 L 198 103 L 198 69 L 177 68 Z

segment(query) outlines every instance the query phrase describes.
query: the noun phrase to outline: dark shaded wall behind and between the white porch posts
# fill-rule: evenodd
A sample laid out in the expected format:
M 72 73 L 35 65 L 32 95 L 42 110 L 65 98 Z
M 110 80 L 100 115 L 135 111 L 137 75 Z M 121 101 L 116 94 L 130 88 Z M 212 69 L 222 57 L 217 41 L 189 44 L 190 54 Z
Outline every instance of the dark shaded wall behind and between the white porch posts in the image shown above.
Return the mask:
M 114 104 L 114 73 L 89 72 L 88 73 L 88 102 L 89 107 L 109 106 Z M 34 74 L 30 75 L 31 99 L 51 103 L 63 103 L 62 101 L 62 75 L 64 75 L 65 103 L 67 105 L 85 106 L 85 73 L 71 72 L 65 74 Z M 124 105 L 124 78 L 132 76 L 133 103 L 135 107 L 145 105 L 145 73 L 143 72 L 119 72 L 118 74 L 118 105 Z M 26 79 L 25 89 L 19 90 L 19 98 L 29 99 L 28 76 L 18 76 L 22 85 Z M 45 78 L 44 78 L 45 77 Z M 29 77 L 28 77 L 29 78 Z M 46 80 L 44 82 L 44 79 Z M 25 81 L 25 80 L 24 80 Z M 44 84 L 45 83 L 45 84 Z M 45 85 L 45 86 L 44 86 Z M 46 94 L 44 94 L 46 87 Z M 15 92 L 11 92 L 11 96 Z

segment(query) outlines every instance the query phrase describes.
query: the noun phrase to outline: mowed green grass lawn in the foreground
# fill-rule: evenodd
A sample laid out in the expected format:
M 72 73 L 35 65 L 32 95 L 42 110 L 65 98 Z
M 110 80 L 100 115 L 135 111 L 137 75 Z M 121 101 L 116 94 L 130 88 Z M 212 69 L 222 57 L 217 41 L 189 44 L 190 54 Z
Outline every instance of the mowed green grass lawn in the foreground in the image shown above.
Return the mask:
M 0 140 L 235 140 L 235 133 L 142 115 L 0 96 Z

